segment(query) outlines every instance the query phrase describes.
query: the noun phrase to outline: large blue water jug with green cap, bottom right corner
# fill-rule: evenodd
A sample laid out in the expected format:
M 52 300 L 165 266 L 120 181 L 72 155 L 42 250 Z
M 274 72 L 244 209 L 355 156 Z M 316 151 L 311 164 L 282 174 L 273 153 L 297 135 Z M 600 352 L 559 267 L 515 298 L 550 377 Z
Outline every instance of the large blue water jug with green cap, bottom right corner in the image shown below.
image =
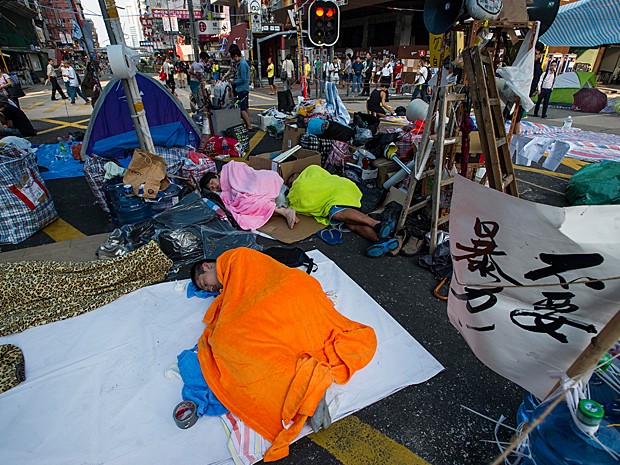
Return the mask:
M 549 405 L 542 403 L 532 419 L 541 415 Z M 607 448 L 620 453 L 620 431 L 604 418 L 603 407 L 590 399 L 579 401 L 576 412 L 581 427 L 589 431 Z M 611 465 L 618 464 L 590 435 L 575 424 L 566 402 L 560 403 L 529 434 L 530 457 L 520 465 Z

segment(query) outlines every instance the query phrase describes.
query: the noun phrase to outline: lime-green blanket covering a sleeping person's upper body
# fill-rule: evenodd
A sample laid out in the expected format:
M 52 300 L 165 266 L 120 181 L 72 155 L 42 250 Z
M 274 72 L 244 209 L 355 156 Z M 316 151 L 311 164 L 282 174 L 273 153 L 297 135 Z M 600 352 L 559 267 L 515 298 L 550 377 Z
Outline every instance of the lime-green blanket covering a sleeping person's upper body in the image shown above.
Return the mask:
M 329 209 L 334 206 L 359 208 L 362 193 L 353 181 L 329 174 L 312 165 L 301 172 L 288 194 L 288 203 L 297 213 L 313 216 L 329 225 Z

